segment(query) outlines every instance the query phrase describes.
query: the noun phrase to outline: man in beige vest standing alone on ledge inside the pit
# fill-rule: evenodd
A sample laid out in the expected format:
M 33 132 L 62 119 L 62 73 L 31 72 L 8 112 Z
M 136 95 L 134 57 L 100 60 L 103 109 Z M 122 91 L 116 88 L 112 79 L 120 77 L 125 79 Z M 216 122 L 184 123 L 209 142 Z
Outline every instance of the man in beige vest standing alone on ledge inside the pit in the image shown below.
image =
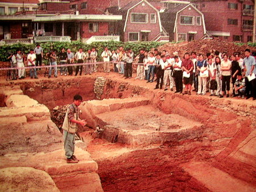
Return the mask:
M 79 118 L 79 105 L 82 102 L 81 95 L 75 95 L 73 103 L 68 107 L 64 122 L 63 122 L 63 136 L 64 136 L 64 149 L 65 156 L 67 157 L 67 163 L 77 163 L 75 152 L 75 134 L 77 131 L 77 125 L 85 126 L 85 120 Z

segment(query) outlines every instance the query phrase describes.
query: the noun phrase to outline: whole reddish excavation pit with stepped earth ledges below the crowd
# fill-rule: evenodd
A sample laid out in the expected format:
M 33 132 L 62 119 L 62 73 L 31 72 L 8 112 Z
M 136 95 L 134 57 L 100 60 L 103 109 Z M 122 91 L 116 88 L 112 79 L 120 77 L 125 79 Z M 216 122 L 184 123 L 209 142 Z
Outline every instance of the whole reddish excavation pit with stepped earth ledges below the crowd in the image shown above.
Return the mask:
M 100 76 L 106 82 L 97 100 L 93 89 Z M 6 103 L 3 97 L 1 168 L 46 170 L 61 191 L 82 191 L 87 181 L 94 183 L 90 189 L 102 186 L 104 191 L 256 189 L 252 101 L 174 94 L 103 73 L 2 82 L 4 86 L 19 86 L 35 103 L 23 106 L 28 103 L 25 97 L 24 104 L 20 99 L 10 102 L 20 96 L 7 96 Z M 81 130 L 85 143 L 77 143 L 77 156 L 82 164 L 72 167 L 65 164 L 62 135 L 49 119 L 49 110 L 70 104 L 74 94 L 84 98 L 81 115 L 89 127 L 104 131 L 95 139 L 94 130 Z

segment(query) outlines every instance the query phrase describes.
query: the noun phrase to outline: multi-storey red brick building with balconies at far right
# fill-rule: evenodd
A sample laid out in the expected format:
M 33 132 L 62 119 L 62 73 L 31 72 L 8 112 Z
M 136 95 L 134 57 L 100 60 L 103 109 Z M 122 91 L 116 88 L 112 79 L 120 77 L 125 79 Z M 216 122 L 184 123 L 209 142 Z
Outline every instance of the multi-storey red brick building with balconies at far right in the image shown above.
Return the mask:
M 227 41 L 252 41 L 253 1 L 207 0 L 193 3 L 204 14 L 208 35 Z

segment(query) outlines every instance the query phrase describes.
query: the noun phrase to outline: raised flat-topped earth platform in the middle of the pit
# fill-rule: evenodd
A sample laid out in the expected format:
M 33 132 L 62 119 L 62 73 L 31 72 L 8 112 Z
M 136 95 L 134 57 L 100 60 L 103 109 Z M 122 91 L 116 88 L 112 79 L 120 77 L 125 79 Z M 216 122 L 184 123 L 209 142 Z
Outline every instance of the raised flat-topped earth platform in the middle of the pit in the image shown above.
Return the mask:
M 157 144 L 195 139 L 202 124 L 177 114 L 164 114 L 154 106 L 124 108 L 97 115 L 102 137 L 125 144 Z

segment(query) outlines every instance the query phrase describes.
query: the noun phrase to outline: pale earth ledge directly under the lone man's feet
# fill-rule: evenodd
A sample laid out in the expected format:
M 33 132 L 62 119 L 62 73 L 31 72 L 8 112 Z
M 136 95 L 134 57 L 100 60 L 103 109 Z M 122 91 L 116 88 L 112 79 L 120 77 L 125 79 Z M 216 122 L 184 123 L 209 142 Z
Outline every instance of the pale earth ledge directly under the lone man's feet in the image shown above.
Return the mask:
M 98 165 L 90 154 L 76 147 L 77 164 L 67 164 L 64 149 L 48 153 L 14 153 L 0 158 L 0 168 L 29 166 L 44 170 L 60 191 L 103 191 L 100 177 L 96 173 Z

